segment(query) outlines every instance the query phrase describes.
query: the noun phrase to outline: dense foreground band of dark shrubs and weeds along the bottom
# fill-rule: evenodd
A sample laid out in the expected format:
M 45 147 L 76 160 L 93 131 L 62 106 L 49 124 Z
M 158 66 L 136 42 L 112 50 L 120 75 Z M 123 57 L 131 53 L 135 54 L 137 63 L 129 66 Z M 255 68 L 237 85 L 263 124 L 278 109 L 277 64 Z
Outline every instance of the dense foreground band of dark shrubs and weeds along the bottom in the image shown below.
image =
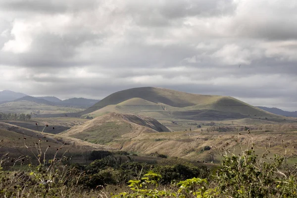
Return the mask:
M 248 136 L 250 132 L 248 131 Z M 285 155 L 255 154 L 252 138 L 238 155 L 229 148 L 210 148 L 222 154 L 220 165 L 198 165 L 184 159 L 162 158 L 157 164 L 131 160 L 126 152 L 93 151 L 100 158 L 89 165 L 71 164 L 63 155 L 45 160 L 36 143 L 36 159 L 29 156 L 0 159 L 0 197 L 125 197 L 125 198 L 294 198 L 297 165 Z M 283 144 L 285 153 L 287 146 Z M 207 148 L 208 149 L 208 148 Z M 58 153 L 59 149 L 57 149 Z M 122 155 L 120 155 L 122 154 Z M 122 156 L 122 157 L 121 157 Z M 129 160 L 125 160 L 128 157 Z M 34 165 L 37 160 L 37 165 Z M 19 166 L 18 169 L 15 169 Z M 11 169 L 14 168 L 14 169 Z M 128 183 L 128 186 L 127 186 Z

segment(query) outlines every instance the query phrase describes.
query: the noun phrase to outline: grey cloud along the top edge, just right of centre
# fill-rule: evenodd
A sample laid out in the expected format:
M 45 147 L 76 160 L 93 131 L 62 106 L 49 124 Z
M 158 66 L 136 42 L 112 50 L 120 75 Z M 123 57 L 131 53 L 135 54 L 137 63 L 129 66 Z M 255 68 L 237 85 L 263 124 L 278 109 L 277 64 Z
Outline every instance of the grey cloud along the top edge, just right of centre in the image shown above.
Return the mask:
M 232 14 L 236 4 L 230 0 L 130 0 L 126 5 L 126 14 L 131 14 L 135 22 L 147 26 L 174 25 L 174 20 L 194 16 L 216 16 Z M 179 25 L 183 20 L 179 21 Z

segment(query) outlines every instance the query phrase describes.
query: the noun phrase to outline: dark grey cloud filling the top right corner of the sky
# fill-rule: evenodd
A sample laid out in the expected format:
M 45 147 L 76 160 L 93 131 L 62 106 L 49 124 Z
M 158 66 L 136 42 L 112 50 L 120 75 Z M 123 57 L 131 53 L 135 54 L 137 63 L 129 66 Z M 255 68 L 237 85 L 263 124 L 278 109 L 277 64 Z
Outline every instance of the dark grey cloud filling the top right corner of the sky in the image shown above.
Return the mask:
M 240 4 L 230 26 L 239 37 L 265 40 L 297 39 L 297 4 L 294 0 L 260 0 Z

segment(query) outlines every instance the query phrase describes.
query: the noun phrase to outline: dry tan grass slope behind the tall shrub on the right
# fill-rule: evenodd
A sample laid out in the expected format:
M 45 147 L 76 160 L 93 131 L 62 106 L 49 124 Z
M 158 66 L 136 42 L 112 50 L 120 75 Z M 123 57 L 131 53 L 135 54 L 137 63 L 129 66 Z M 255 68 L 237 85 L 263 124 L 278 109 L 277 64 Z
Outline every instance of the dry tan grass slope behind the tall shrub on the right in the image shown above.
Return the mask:
M 263 126 L 261 126 L 263 127 Z M 269 126 L 270 127 L 270 126 Z M 291 128 L 292 126 L 289 126 Z M 295 126 L 296 127 L 296 126 Z M 284 126 L 277 127 L 279 129 Z M 275 153 L 284 154 L 287 146 L 288 157 L 296 157 L 297 147 L 297 131 L 251 131 L 253 142 L 259 152 L 262 152 L 265 148 L 265 144 L 270 144 L 271 156 Z M 242 135 L 239 135 L 241 133 Z M 196 159 L 199 161 L 209 161 L 211 159 L 211 153 L 209 151 L 203 151 L 205 146 L 216 148 L 230 148 L 239 149 L 239 143 L 243 147 L 249 147 L 246 145 L 249 138 L 246 136 L 246 131 L 240 132 L 171 132 L 171 133 L 153 133 L 142 134 L 141 136 L 134 137 L 125 140 L 114 140 L 109 146 L 113 148 L 121 148 L 126 151 L 133 151 L 139 153 L 151 153 L 159 152 L 168 156 L 177 156 L 186 159 Z M 284 142 L 282 142 L 284 140 Z M 227 145 L 226 145 L 227 143 Z M 267 145 L 266 145 L 267 146 Z M 251 146 L 250 146 L 251 147 Z M 220 157 L 214 154 L 219 160 Z M 294 161 L 294 160 L 293 160 Z

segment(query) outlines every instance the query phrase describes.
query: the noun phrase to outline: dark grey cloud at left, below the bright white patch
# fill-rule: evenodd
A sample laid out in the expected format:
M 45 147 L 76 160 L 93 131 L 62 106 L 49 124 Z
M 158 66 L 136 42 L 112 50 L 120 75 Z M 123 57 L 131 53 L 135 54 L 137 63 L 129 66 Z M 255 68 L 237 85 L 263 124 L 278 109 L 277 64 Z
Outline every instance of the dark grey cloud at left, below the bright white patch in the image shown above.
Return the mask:
M 85 33 L 73 33 L 68 35 L 42 34 L 36 36 L 31 44 L 31 50 L 22 54 L 3 54 L 2 64 L 21 65 L 28 67 L 69 67 L 87 64 L 88 60 L 77 60 L 76 51 L 85 42 L 98 44 L 100 35 Z

